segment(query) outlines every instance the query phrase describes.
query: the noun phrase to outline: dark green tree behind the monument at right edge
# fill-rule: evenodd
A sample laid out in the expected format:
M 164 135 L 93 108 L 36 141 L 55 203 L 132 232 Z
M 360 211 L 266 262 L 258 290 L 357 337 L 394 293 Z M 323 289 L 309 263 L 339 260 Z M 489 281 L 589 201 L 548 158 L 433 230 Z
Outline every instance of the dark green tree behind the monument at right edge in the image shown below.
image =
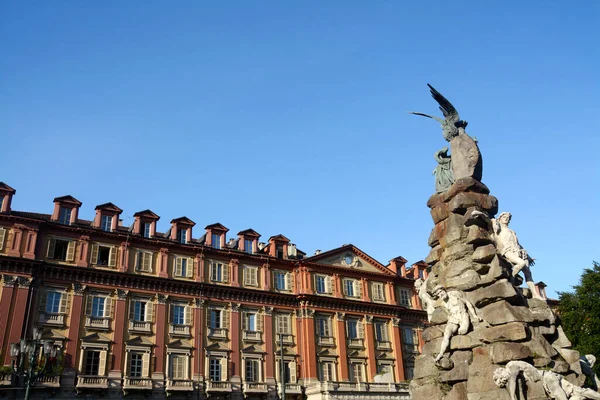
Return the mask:
M 558 293 L 562 327 L 575 350 L 598 357 L 594 372 L 600 375 L 600 264 L 586 268 L 573 289 Z

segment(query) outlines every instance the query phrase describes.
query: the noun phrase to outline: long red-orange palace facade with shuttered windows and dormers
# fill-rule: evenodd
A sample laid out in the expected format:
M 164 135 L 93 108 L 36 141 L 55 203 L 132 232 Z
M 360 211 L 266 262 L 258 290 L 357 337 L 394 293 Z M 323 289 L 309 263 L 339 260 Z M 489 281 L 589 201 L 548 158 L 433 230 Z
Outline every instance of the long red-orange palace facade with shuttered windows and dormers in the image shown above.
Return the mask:
M 351 244 L 307 256 L 186 217 L 161 233 L 150 210 L 126 227 L 112 203 L 83 220 L 72 196 L 15 211 L 14 195 L 0 182 L 0 357 L 41 329 L 57 356 L 34 397 L 409 398 L 425 263 Z M 19 391 L 7 371 L 0 393 Z

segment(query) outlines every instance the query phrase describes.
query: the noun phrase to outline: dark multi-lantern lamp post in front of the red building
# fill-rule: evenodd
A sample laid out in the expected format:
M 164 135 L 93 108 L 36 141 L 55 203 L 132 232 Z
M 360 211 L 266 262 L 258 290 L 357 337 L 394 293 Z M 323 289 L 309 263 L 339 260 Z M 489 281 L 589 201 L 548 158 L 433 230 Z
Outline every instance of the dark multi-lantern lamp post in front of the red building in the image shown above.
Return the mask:
M 45 356 L 44 365 L 36 371 L 40 344 L 43 345 L 42 355 Z M 14 358 L 13 370 L 15 374 L 23 376 L 25 379 L 25 400 L 29 400 L 29 389 L 46 368 L 48 357 L 56 356 L 56 348 L 53 346 L 52 341 L 42 340 L 42 330 L 35 327 L 33 328 L 31 340 L 21 339 L 20 343 L 10 344 L 10 355 Z M 27 368 L 25 368 L 25 359 L 27 356 L 29 356 L 29 363 L 27 364 Z

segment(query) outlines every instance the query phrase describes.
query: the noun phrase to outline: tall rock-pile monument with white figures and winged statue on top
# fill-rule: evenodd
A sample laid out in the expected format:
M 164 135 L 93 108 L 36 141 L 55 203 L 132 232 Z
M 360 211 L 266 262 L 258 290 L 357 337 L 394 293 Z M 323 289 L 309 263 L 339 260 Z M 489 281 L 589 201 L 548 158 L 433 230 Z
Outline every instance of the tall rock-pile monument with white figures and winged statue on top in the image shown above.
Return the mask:
M 510 214 L 482 183 L 477 142 L 454 106 L 428 85 L 451 154 L 436 153 L 431 272 L 416 289 L 429 326 L 410 383 L 413 400 L 600 399 L 586 388 L 595 358 L 571 349 L 560 319 L 540 298 L 534 260 L 508 228 Z M 450 158 L 450 159 L 448 159 Z M 442 166 L 443 164 L 443 166 Z M 523 273 L 528 288 L 521 288 Z M 585 370 L 585 371 L 584 371 Z M 595 377 L 595 375 L 594 375 Z

